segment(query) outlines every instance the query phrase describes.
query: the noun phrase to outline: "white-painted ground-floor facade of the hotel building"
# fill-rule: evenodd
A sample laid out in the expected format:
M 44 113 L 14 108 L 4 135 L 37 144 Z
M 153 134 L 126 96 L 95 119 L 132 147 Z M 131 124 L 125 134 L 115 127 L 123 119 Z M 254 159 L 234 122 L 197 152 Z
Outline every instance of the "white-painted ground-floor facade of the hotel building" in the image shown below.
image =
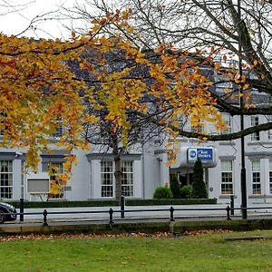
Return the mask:
M 267 121 L 265 116 L 258 116 L 258 123 Z M 245 126 L 252 123 L 251 117 L 245 118 Z M 239 118 L 229 121 L 231 131 L 239 130 Z M 212 131 L 207 124 L 206 131 Z M 235 196 L 236 205 L 240 204 L 240 140 L 200 142 L 193 139 L 180 138 L 183 151 L 192 147 L 212 147 L 216 150 L 216 166 L 205 168 L 204 180 L 207 183 L 209 198 L 218 199 L 219 203 L 229 203 L 230 195 Z M 272 133 L 262 131 L 259 134 L 245 137 L 247 196 L 248 205 L 272 202 Z M 158 186 L 170 183 L 170 174 L 178 174 L 180 182 L 191 182 L 192 167 L 175 168 L 167 166 L 168 154 L 160 139 L 151 144 L 141 145 L 122 157 L 126 182 L 123 189 L 126 197 L 132 199 L 151 199 Z M 53 155 L 41 154 L 39 173 L 47 176 L 48 162 L 63 163 L 63 151 L 54 151 Z M 29 175 L 22 172 L 25 150 L 0 150 L 0 197 L 4 200 L 40 200 L 43 194 L 34 194 L 27 181 Z M 113 199 L 114 198 L 114 160 L 111 153 L 74 151 L 78 165 L 73 166 L 73 178 L 68 181 L 61 199 Z M 185 156 L 186 153 L 182 154 Z M 106 162 L 105 162 L 106 161 Z M 31 173 L 29 173 L 31 175 Z

